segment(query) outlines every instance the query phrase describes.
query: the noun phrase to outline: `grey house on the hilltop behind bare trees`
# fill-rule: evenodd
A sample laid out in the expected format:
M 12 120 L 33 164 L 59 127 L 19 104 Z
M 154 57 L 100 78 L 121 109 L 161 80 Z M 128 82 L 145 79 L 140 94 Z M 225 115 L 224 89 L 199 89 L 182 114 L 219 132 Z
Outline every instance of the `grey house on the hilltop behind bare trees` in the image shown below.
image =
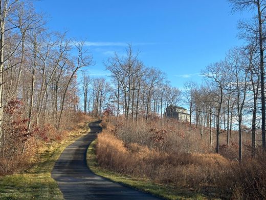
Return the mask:
M 180 122 L 188 122 L 190 115 L 187 112 L 187 109 L 183 107 L 170 105 L 165 109 L 164 117 L 175 118 Z

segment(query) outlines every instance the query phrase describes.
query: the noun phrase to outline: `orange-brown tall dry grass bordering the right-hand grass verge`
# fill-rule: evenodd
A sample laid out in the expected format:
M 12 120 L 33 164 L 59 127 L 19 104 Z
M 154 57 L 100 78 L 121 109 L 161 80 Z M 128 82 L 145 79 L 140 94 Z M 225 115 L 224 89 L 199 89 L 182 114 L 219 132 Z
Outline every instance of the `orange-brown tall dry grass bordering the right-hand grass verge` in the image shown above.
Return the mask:
M 228 161 L 218 154 L 169 154 L 137 143 L 124 144 L 107 132 L 98 135 L 97 159 L 107 169 L 186 187 L 214 184 Z

